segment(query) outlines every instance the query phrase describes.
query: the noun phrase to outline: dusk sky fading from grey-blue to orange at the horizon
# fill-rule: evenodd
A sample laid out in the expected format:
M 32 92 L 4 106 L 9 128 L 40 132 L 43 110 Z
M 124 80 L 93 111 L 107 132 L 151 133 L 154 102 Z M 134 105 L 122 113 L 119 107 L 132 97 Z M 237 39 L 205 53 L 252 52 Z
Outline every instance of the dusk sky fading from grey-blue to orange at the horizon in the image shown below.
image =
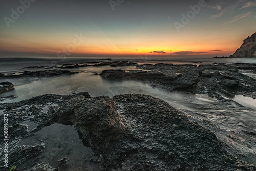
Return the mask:
M 0 56 L 229 56 L 256 0 L 0 0 Z

